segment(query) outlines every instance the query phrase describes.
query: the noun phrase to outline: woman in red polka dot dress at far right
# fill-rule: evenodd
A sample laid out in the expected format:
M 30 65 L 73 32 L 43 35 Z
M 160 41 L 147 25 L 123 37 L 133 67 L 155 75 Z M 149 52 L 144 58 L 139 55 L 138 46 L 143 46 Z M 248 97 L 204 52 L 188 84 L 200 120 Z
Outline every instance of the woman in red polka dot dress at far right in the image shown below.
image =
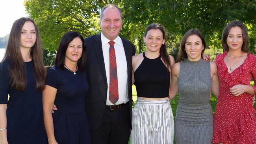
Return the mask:
M 256 144 L 256 118 L 252 97 L 256 86 L 256 56 L 248 52 L 249 37 L 240 21 L 222 33 L 224 53 L 218 55 L 219 97 L 214 114 L 213 143 Z

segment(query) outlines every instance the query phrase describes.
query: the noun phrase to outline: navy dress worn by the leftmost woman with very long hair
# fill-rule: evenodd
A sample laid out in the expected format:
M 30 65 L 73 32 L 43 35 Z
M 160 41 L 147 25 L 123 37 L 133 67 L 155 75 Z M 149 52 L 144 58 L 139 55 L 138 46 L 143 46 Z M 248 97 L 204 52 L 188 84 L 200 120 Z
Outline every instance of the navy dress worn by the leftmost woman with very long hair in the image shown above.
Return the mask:
M 47 144 L 42 91 L 35 87 L 33 61 L 26 62 L 26 76 L 25 90 L 18 91 L 11 87 L 9 62 L 0 63 L 0 104 L 7 103 L 7 140 L 9 144 Z

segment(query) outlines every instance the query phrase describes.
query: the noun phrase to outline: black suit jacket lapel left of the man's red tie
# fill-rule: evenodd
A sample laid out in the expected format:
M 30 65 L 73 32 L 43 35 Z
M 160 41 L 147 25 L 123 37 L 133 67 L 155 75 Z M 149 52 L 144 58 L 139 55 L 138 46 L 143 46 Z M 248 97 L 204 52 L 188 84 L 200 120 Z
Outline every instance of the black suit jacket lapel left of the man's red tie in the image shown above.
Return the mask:
M 106 76 L 106 69 L 105 69 L 105 63 L 104 63 L 104 57 L 103 57 L 103 51 L 102 51 L 102 43 L 101 43 L 101 37 L 100 37 L 100 33 L 98 35 L 96 35 L 95 39 L 94 39 L 94 49 L 98 58 L 98 62 L 100 65 L 100 69 L 102 72 L 102 75 L 105 79 L 105 83 L 106 85 L 107 83 L 107 76 Z

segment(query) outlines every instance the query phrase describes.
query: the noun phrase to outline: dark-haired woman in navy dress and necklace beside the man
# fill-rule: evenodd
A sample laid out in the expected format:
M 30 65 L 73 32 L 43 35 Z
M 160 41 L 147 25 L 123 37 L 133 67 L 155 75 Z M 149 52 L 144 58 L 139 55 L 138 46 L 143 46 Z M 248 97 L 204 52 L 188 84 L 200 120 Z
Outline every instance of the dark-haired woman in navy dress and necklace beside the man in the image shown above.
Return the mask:
M 90 144 L 85 113 L 88 83 L 85 73 L 85 45 L 82 35 L 67 32 L 59 42 L 55 66 L 46 76 L 43 91 L 45 129 L 49 144 Z M 58 111 L 53 114 L 53 105 Z

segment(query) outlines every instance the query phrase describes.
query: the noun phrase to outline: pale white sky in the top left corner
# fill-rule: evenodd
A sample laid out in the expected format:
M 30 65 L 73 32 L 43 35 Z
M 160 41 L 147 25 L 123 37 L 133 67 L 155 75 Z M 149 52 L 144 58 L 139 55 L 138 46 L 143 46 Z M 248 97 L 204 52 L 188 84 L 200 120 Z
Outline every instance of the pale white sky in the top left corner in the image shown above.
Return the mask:
M 0 0 L 0 37 L 10 33 L 15 20 L 28 17 L 23 2 L 24 0 Z

